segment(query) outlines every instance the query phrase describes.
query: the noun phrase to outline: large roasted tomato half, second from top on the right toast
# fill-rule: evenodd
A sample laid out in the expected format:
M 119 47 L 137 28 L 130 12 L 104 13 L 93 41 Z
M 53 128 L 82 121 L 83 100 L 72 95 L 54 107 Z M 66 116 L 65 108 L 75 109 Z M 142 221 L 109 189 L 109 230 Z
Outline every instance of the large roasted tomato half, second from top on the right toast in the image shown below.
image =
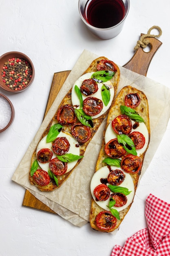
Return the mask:
M 119 115 L 112 120 L 112 128 L 116 134 L 128 135 L 132 130 L 132 121 L 126 115 Z

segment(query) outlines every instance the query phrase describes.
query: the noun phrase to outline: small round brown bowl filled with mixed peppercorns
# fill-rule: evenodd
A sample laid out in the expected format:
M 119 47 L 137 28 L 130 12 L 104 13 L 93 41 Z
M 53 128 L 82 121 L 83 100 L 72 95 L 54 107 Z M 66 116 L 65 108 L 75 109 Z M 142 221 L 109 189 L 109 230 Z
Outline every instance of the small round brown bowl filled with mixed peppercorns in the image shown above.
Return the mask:
M 6 83 L 4 81 L 5 81 L 5 78 L 7 79 L 7 77 L 6 77 L 6 74 L 4 74 L 5 77 L 2 77 L 2 72 L 6 72 L 6 73 L 9 74 L 9 71 L 11 71 L 11 70 L 9 70 L 7 67 L 6 67 L 7 69 L 5 69 L 4 68 L 4 66 L 5 66 L 4 64 L 6 63 L 6 64 L 9 65 L 9 62 L 10 62 L 9 59 L 12 60 L 13 58 L 19 58 L 19 59 L 23 59 L 23 60 L 27 61 L 30 64 L 30 66 L 31 66 L 32 76 L 31 77 L 23 76 L 22 79 L 19 79 L 19 80 L 21 80 L 21 82 L 16 82 L 15 79 L 18 79 L 19 76 L 16 76 L 16 70 L 14 70 L 15 66 L 11 66 L 11 64 L 10 64 L 9 69 L 13 68 L 12 72 L 14 72 L 14 71 L 15 72 L 14 72 L 14 74 L 12 74 L 13 80 L 10 81 L 9 78 L 8 78 L 8 80 L 6 82 L 8 82 L 9 84 L 6 85 Z M 19 65 L 19 63 L 17 63 L 17 65 Z M 20 67 L 20 66 L 17 66 L 17 68 L 18 67 Z M 22 71 L 22 72 L 24 73 L 24 71 Z M 14 77 L 14 75 L 16 77 Z M 34 70 L 33 63 L 30 60 L 30 58 L 28 56 L 26 56 L 25 54 L 23 54 L 21 52 L 7 52 L 7 53 L 3 54 L 2 56 L 0 56 L 0 88 L 2 88 L 3 90 L 8 91 L 8 92 L 14 92 L 14 93 L 22 92 L 23 90 L 25 90 L 26 88 L 28 88 L 31 85 L 31 83 L 34 80 L 34 76 L 35 76 L 35 70 Z M 23 80 L 25 77 L 27 79 L 26 84 L 22 85 L 22 82 L 23 83 L 25 82 Z M 16 83 L 16 85 L 14 85 L 14 83 Z M 20 87 L 19 87 L 19 85 L 20 85 Z M 8 87 L 8 86 L 11 86 L 12 89 L 10 87 Z

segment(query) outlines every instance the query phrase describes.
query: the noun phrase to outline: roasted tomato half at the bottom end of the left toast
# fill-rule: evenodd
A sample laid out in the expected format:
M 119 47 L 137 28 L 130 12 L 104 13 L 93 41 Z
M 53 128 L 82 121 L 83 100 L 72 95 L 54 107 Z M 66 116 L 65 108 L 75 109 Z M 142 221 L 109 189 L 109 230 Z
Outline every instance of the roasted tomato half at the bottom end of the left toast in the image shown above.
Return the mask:
M 35 173 L 33 174 L 33 179 L 40 186 L 46 186 L 50 183 L 49 174 L 41 169 L 35 171 Z

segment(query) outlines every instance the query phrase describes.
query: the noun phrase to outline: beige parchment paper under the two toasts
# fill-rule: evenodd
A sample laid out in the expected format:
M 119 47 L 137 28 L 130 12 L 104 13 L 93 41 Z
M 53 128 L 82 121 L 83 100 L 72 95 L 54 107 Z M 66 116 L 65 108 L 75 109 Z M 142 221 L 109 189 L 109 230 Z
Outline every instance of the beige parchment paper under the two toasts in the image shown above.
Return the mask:
M 13 181 L 24 186 L 36 198 L 49 206 L 62 218 L 79 227 L 82 227 L 89 221 L 89 213 L 91 209 L 90 182 L 102 143 L 106 119 L 102 122 L 102 125 L 96 132 L 95 136 L 88 144 L 84 158 L 80 164 L 75 168 L 73 173 L 59 189 L 52 192 L 39 191 L 35 186 L 30 184 L 28 177 L 31 156 L 46 126 L 53 118 L 60 102 L 68 90 L 73 86 L 76 79 L 78 79 L 78 77 L 97 57 L 98 56 L 87 50 L 82 52 L 12 177 Z M 124 67 L 119 66 L 119 68 L 121 78 L 118 92 L 124 86 L 131 85 L 142 90 L 148 98 L 151 139 L 142 168 L 142 177 L 161 142 L 164 132 L 166 131 L 170 118 L 170 90 L 166 86 L 148 79 L 145 76 L 127 70 Z

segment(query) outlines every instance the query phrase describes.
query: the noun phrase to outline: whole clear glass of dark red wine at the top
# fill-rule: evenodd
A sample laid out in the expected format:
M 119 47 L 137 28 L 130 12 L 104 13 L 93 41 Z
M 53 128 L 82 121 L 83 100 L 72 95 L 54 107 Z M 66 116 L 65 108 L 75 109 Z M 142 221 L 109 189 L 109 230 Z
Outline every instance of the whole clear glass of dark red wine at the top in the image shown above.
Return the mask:
M 78 7 L 80 16 L 91 33 L 107 40 L 121 32 L 130 0 L 79 0 Z

